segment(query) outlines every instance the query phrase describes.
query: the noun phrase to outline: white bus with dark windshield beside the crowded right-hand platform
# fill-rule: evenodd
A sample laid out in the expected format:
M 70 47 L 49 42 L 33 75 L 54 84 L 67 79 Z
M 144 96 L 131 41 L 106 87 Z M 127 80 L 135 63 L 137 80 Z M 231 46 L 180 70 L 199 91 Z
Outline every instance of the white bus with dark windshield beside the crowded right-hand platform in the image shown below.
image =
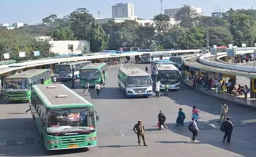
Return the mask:
M 164 89 L 165 84 L 169 89 L 180 89 L 181 72 L 173 64 L 157 64 L 156 81 L 160 81 L 160 89 Z

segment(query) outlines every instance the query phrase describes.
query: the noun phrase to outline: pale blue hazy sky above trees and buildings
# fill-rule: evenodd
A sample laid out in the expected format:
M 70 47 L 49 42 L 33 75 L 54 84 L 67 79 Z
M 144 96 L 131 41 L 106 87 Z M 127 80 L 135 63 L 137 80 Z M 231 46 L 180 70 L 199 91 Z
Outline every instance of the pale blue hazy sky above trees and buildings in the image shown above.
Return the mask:
M 160 0 L 0 0 L 0 23 L 23 22 L 35 24 L 50 15 L 68 15 L 78 7 L 85 7 L 95 17 L 111 17 L 111 5 L 130 2 L 135 5 L 135 16 L 152 19 L 160 13 Z M 211 15 L 213 6 L 233 9 L 256 9 L 256 0 L 163 0 L 163 8 L 182 7 L 182 4 L 202 7 L 204 15 Z M 221 9 L 222 11 L 222 9 Z

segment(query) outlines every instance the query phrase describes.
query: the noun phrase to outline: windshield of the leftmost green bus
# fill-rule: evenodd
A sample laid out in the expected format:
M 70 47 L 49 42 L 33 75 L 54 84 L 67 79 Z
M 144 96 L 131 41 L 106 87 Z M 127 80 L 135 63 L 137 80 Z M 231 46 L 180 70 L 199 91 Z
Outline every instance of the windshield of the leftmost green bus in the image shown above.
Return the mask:
M 28 79 L 6 79 L 4 80 L 4 90 L 28 90 Z

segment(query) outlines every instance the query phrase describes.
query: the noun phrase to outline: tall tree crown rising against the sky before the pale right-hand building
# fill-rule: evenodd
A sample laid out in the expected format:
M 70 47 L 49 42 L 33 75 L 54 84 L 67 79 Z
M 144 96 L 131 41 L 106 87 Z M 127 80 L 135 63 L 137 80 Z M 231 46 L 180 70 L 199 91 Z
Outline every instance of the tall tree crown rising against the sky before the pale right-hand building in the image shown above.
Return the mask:
M 180 21 L 180 26 L 185 28 L 191 28 L 197 26 L 198 18 L 200 15 L 195 9 L 186 5 L 178 11 L 175 15 L 175 20 Z

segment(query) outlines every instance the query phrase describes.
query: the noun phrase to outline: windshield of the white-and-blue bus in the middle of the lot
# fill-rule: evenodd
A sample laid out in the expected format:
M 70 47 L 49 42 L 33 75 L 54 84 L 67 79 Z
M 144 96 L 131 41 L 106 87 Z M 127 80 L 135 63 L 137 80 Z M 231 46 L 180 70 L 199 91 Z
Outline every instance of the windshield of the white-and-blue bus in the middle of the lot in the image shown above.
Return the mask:
M 129 76 L 127 79 L 127 87 L 148 87 L 151 85 L 150 76 Z

